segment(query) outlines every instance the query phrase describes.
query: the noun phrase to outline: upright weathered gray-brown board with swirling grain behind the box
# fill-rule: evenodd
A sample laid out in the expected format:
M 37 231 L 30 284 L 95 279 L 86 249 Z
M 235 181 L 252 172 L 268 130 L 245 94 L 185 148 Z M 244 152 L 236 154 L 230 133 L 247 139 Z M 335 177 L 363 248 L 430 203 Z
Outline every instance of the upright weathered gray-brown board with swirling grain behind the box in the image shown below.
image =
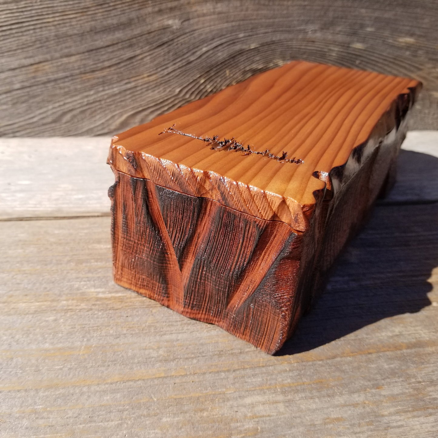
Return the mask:
M 114 134 L 289 60 L 424 82 L 438 128 L 434 0 L 0 3 L 0 135 Z

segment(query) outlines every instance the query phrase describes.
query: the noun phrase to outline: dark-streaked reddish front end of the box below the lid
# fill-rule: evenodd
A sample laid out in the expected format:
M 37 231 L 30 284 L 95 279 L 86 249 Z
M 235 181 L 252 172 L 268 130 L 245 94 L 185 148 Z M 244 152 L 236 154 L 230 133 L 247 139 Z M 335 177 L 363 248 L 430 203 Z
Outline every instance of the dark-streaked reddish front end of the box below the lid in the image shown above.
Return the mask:
M 289 226 L 124 173 L 110 195 L 116 283 L 269 353 L 283 345 L 300 267 Z

